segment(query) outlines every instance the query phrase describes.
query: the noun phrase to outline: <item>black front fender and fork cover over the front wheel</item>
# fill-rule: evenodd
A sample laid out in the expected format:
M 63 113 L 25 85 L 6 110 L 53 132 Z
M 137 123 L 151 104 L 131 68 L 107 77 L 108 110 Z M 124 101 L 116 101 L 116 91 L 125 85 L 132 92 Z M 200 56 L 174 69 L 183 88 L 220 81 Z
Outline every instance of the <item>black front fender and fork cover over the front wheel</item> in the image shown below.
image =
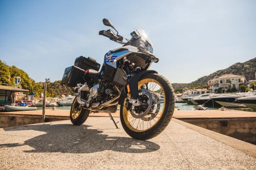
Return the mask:
M 129 93 L 129 92 L 131 93 L 131 98 L 132 99 L 138 99 L 138 93 L 139 93 L 138 92 L 138 82 L 139 82 L 139 79 L 144 74 L 149 74 L 149 73 L 158 74 L 158 72 L 155 71 L 155 70 L 144 70 L 144 71 L 139 72 L 138 74 L 134 75 L 133 77 L 131 77 L 129 79 L 126 86 L 121 91 L 121 95 L 120 95 L 120 98 L 118 100 L 119 105 L 123 105 L 123 102 L 124 102 L 124 100 L 127 96 L 127 93 Z

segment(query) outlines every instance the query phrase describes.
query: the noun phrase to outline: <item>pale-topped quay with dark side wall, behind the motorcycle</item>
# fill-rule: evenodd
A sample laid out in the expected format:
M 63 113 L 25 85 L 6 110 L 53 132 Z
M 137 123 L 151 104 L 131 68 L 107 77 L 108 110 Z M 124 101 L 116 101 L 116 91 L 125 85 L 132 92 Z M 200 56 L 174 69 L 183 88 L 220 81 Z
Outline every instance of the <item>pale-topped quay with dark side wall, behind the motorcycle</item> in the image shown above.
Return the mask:
M 0 112 L 0 128 L 41 123 L 41 110 Z M 46 110 L 46 122 L 69 119 L 70 110 Z M 119 111 L 112 114 L 119 119 Z M 91 113 L 90 117 L 109 117 Z M 239 110 L 175 110 L 173 118 L 256 144 L 256 112 Z M 121 125 L 119 125 L 121 126 Z

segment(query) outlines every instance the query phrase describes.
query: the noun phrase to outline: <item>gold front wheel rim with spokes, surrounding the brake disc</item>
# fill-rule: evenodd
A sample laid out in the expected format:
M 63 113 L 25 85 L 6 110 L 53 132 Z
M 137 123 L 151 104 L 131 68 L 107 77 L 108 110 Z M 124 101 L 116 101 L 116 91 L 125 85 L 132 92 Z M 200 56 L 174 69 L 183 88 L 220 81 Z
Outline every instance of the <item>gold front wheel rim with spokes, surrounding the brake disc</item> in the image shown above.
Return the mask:
M 155 98 L 155 102 L 153 103 L 154 105 L 152 105 L 148 115 L 145 115 L 143 118 L 135 118 L 131 114 L 130 110 L 126 109 L 126 99 L 123 103 L 122 109 L 124 123 L 134 132 L 144 132 L 153 128 L 159 122 L 165 110 L 166 98 L 163 86 L 157 80 L 148 78 L 138 82 L 139 90 L 145 87 Z M 161 96 L 163 96 L 163 98 L 161 98 Z M 160 100 L 160 98 L 163 100 Z

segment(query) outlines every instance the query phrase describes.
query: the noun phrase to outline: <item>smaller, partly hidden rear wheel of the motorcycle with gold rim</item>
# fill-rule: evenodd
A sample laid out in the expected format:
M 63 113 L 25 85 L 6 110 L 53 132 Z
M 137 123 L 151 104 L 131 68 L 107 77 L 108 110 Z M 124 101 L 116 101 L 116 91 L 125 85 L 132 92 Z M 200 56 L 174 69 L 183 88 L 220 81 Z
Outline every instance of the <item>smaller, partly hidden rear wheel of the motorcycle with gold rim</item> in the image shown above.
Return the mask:
M 71 109 L 70 109 L 70 120 L 73 125 L 82 125 L 86 122 L 90 111 L 78 108 L 79 104 L 77 102 L 77 97 L 74 99 Z

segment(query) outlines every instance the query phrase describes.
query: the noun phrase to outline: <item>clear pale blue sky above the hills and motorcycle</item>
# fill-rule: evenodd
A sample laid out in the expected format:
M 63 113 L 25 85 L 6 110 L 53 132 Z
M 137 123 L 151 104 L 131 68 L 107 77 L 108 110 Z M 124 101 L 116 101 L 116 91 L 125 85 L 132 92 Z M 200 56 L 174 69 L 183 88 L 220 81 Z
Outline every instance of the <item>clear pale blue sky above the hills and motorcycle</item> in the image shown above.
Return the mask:
M 189 83 L 256 57 L 256 1 L 2 1 L 0 60 L 36 82 L 61 80 L 79 56 L 102 64 L 120 44 L 98 35 L 109 29 L 131 38 L 145 30 L 159 58 L 151 69 Z

